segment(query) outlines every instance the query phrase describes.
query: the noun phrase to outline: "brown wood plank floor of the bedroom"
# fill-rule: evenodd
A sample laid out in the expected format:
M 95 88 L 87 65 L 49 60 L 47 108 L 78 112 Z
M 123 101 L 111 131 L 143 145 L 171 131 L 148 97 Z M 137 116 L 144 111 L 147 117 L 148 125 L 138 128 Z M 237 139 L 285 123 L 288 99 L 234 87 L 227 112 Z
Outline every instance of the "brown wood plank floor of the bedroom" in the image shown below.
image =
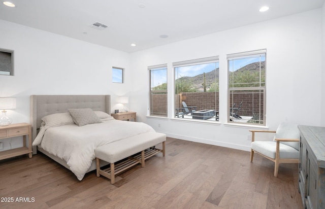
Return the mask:
M 94 171 L 78 181 L 45 155 L 26 155 L 0 161 L 1 200 L 14 200 L 0 208 L 303 208 L 298 164 L 280 164 L 278 178 L 273 172 L 257 154 L 251 163 L 249 152 L 174 138 L 165 157 L 121 173 L 114 185 Z

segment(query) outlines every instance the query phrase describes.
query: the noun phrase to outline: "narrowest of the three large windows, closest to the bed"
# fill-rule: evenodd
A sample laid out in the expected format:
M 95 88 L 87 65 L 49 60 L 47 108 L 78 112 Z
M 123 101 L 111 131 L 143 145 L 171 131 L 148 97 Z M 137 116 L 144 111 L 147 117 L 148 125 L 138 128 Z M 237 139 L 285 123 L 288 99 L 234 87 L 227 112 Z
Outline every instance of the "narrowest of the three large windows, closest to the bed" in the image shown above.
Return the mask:
M 167 64 L 149 66 L 150 116 L 167 117 Z

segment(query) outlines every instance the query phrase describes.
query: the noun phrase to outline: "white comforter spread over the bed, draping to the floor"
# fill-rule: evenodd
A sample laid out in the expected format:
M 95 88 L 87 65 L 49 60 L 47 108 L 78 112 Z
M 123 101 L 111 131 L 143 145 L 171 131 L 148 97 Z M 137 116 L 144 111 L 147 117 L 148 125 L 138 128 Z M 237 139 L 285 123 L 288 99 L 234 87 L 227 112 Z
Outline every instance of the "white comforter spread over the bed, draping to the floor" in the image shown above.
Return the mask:
M 82 180 L 95 159 L 97 147 L 122 140 L 123 138 L 154 131 L 145 123 L 108 120 L 85 126 L 63 125 L 47 128 L 39 134 L 33 145 L 67 162 L 70 170 Z

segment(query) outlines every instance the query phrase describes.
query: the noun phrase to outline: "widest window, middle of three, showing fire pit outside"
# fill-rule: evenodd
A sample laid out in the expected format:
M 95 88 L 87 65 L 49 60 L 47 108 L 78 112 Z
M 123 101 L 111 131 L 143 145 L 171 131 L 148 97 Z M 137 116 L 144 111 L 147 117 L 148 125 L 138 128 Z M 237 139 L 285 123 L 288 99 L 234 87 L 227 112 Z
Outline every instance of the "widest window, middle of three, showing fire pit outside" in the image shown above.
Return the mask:
M 219 120 L 218 56 L 173 63 L 175 118 Z

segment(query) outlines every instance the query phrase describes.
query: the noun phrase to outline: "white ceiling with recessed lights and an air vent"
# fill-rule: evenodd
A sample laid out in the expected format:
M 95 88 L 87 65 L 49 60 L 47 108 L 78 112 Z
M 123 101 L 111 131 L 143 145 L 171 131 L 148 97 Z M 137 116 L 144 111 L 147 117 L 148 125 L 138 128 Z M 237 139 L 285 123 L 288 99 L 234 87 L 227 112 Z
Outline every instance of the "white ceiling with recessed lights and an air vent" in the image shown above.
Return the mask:
M 16 7 L 1 3 L 0 19 L 124 52 L 135 52 L 321 8 L 324 1 L 11 0 Z M 259 8 L 265 5 L 270 9 L 259 12 Z M 108 27 L 103 30 L 90 27 L 95 22 Z M 132 47 L 132 43 L 137 46 Z

